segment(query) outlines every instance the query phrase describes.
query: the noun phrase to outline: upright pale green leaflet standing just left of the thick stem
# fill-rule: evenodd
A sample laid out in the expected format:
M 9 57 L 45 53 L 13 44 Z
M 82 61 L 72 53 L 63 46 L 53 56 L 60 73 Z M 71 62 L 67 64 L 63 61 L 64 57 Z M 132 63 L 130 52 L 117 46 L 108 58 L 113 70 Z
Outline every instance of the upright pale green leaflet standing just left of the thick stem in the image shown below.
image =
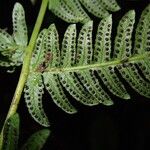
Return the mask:
M 24 50 L 28 43 L 28 33 L 25 21 L 25 12 L 20 3 L 15 3 L 13 13 L 13 38 L 16 45 L 18 45 L 15 53 L 12 55 L 12 60 L 16 66 L 23 62 Z

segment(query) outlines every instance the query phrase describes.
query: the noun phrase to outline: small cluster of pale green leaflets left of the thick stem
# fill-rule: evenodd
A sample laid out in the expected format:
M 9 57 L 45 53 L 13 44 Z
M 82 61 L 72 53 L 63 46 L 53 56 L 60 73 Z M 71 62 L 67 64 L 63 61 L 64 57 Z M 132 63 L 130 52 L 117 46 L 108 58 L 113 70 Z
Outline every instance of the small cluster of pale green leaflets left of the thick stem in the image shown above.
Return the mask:
M 24 50 L 28 43 L 25 13 L 21 4 L 15 3 L 12 12 L 13 35 L 0 29 L 0 52 L 9 62 L 0 63 L 2 66 L 19 66 L 23 62 Z M 9 65 L 8 65 L 9 64 Z

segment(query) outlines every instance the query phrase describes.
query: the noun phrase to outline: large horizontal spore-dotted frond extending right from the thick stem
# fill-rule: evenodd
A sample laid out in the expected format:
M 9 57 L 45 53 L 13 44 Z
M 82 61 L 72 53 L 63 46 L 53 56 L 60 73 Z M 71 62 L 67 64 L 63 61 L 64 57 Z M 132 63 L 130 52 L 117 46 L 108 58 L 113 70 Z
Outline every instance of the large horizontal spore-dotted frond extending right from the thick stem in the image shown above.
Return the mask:
M 149 20 L 149 17 L 147 19 L 145 17 L 150 15 L 149 8 L 144 10 L 140 19 L 143 20 L 142 18 L 144 18 L 145 24 Z M 76 26 L 70 25 L 64 34 L 61 50 L 59 49 L 57 30 L 54 25 L 51 25 L 45 30 L 45 36 L 41 42 L 43 44 L 41 46 L 39 46 L 40 44 L 36 45 L 33 60 L 35 59 L 34 62 L 38 63 L 32 67 L 31 74 L 33 72 L 42 74 L 45 87 L 52 99 L 68 113 L 75 113 L 76 110 L 69 103 L 63 88 L 85 105 L 113 104 L 110 96 L 100 84 L 99 77 L 112 94 L 123 99 L 129 99 L 130 96 L 120 77 L 118 77 L 117 70 L 133 89 L 150 98 L 150 83 L 143 77 L 145 73 L 143 72 L 141 75 L 139 72 L 139 63 L 141 62 L 142 65 L 147 65 L 146 69 L 149 72 L 150 53 L 147 49 L 149 47 L 147 42 L 149 42 L 150 26 L 147 25 L 147 28 L 140 33 L 144 41 L 141 44 L 142 49 L 137 49 L 138 52 L 135 51 L 138 40 L 132 49 L 134 22 L 135 12 L 133 10 L 122 17 L 117 28 L 114 50 L 111 48 L 111 15 L 101 20 L 94 44 L 92 44 L 92 21 L 82 27 L 78 38 Z M 140 22 L 139 24 L 141 24 Z M 138 25 L 136 34 L 139 34 L 139 26 L 141 25 Z M 36 51 L 36 49 L 38 50 Z M 28 83 L 32 84 L 32 82 Z

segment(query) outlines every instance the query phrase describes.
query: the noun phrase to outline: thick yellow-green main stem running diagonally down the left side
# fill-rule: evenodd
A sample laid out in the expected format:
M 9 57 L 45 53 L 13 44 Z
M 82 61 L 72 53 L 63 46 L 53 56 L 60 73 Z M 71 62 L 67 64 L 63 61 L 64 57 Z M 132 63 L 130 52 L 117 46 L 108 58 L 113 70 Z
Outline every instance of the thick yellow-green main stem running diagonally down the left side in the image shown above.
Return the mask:
M 38 14 L 38 17 L 37 17 L 37 20 L 36 20 L 36 23 L 35 23 L 31 38 L 30 38 L 30 42 L 29 42 L 29 44 L 26 48 L 26 51 L 25 51 L 25 58 L 23 61 L 23 66 L 22 66 L 20 78 L 18 81 L 18 85 L 17 85 L 14 97 L 12 99 L 12 103 L 10 105 L 6 120 L 4 122 L 2 131 L 0 134 L 0 150 L 2 148 L 3 129 L 4 129 L 5 123 L 10 116 L 12 116 L 13 114 L 16 113 L 17 108 L 18 108 L 18 104 L 20 102 L 22 91 L 23 91 L 25 82 L 27 80 L 28 74 L 29 74 L 29 66 L 30 66 L 30 61 L 31 61 L 31 57 L 32 57 L 32 51 L 34 49 L 34 45 L 35 45 L 38 33 L 40 31 L 40 28 L 41 28 L 41 25 L 42 25 L 42 22 L 43 22 L 43 19 L 45 16 L 47 4 L 48 4 L 48 0 L 42 0 L 40 11 L 39 11 L 39 14 Z

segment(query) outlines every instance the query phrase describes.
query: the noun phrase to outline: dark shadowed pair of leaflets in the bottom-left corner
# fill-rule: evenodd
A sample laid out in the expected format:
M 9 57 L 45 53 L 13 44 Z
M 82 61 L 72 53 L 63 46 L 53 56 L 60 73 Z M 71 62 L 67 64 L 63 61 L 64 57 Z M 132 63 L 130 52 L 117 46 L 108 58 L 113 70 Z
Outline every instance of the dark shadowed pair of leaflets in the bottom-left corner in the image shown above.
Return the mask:
M 28 138 L 28 140 L 25 142 L 25 144 L 23 144 L 21 148 L 18 148 L 19 122 L 20 119 L 18 114 L 14 114 L 7 120 L 4 127 L 4 143 L 2 146 L 2 150 L 40 150 L 46 142 L 50 131 L 48 129 L 43 129 L 34 133 L 33 135 L 31 135 L 31 137 Z

